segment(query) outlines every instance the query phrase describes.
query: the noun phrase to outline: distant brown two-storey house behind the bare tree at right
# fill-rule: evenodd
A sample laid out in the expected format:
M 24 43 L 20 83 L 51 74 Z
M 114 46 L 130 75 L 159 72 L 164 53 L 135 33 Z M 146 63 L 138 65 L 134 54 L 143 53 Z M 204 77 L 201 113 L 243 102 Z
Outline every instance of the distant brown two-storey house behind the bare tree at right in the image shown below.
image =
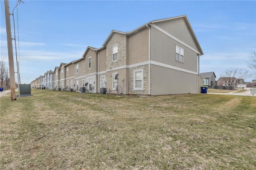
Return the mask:
M 244 79 L 237 79 L 236 77 L 220 77 L 217 84 L 219 86 L 236 86 L 238 88 L 246 87 Z

